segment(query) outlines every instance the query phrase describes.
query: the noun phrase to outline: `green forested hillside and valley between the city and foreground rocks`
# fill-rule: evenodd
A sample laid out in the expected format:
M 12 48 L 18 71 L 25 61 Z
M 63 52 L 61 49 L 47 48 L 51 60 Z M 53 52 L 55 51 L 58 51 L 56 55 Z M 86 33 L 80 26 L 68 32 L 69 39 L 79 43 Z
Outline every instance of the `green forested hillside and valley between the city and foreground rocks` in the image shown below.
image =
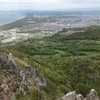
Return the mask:
M 41 70 L 46 78 L 48 100 L 69 91 L 86 94 L 97 90 L 100 96 L 100 27 L 84 32 L 61 33 L 42 39 L 30 39 L 1 48 L 19 60 Z M 17 63 L 21 63 L 17 60 Z

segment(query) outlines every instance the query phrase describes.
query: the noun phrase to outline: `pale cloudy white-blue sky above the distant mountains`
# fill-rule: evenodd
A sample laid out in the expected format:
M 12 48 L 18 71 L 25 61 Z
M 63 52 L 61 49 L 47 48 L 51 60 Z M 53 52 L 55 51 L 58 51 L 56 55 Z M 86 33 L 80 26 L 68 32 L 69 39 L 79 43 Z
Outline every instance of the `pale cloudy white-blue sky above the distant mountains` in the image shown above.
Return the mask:
M 0 10 L 100 8 L 100 0 L 0 0 Z

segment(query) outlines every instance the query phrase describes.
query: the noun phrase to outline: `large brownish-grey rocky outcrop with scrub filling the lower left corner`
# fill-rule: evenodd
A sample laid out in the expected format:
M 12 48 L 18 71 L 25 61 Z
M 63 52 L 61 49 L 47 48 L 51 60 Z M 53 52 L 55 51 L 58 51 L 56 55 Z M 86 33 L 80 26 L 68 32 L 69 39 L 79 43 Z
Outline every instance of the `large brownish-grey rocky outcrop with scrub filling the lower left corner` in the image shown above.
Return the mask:
M 34 86 L 39 91 L 46 86 L 43 73 L 30 66 L 18 67 L 11 53 L 0 52 L 0 100 L 15 100 L 17 92 L 27 95 Z

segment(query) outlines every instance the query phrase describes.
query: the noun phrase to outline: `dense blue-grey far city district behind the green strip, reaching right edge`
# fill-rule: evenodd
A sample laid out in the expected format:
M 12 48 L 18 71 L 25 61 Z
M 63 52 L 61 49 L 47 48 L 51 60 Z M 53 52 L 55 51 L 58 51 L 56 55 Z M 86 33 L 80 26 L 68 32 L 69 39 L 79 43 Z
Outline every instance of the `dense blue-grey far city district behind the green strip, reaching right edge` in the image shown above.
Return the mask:
M 22 30 L 57 31 L 90 25 L 100 25 L 100 14 L 33 15 Z

